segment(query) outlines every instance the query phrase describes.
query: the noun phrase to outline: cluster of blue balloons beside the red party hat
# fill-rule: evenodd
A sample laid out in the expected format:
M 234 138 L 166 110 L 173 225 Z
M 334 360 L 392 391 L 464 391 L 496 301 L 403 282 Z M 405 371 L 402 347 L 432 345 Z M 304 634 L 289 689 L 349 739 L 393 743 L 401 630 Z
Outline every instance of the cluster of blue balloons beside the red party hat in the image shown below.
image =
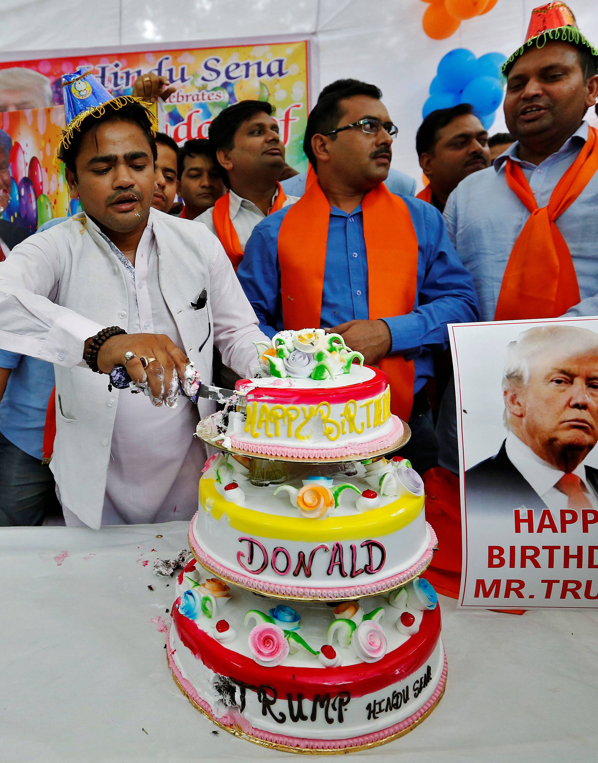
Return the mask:
M 429 86 L 429 98 L 422 108 L 425 119 L 439 108 L 468 103 L 488 130 L 503 100 L 505 79 L 500 67 L 506 61 L 502 53 L 484 53 L 476 59 L 471 50 L 455 48 L 439 62 Z

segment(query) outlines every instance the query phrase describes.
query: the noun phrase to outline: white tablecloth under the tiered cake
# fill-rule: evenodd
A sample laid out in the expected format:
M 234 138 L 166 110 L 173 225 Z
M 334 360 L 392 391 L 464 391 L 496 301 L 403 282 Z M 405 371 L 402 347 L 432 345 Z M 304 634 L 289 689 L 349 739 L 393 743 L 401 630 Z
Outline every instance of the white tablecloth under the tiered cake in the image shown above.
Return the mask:
M 186 548 L 186 533 L 180 522 L 0 530 L 2 763 L 292 760 L 215 735 L 172 681 L 151 621 L 168 621 L 175 578 L 152 562 Z M 440 603 L 445 696 L 407 736 L 350 759 L 596 761 L 598 613 Z

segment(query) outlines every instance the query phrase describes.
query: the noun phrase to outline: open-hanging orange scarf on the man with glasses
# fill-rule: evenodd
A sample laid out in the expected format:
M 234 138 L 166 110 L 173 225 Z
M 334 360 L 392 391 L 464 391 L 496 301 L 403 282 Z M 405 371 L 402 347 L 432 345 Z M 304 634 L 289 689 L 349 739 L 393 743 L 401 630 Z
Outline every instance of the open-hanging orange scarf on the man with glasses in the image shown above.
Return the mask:
M 364 196 L 362 210 L 370 320 L 408 314 L 416 300 L 418 243 L 407 204 L 381 183 Z M 330 204 L 313 182 L 278 233 L 285 329 L 320 326 L 329 224 Z M 393 413 L 407 420 L 413 407 L 413 360 L 387 356 L 378 365 L 391 382 Z

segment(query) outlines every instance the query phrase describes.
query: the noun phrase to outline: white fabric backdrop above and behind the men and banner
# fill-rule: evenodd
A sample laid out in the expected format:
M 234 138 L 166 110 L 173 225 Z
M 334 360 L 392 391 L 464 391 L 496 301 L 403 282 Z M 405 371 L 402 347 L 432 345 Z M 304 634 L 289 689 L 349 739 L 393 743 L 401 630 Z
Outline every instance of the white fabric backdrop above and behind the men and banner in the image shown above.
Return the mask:
M 510 55 L 525 37 L 532 8 L 541 3 L 498 0 L 492 11 L 464 21 L 452 37 L 437 41 L 423 31 L 427 6 L 422 0 L 0 0 L 0 57 L 22 60 L 38 51 L 126 51 L 165 43 L 197 47 L 198 42 L 230 37 L 313 34 L 320 59 L 314 95 L 339 77 L 381 87 L 399 127 L 393 166 L 421 183 L 415 134 L 439 60 L 457 47 L 476 56 L 490 51 Z M 598 43 L 596 0 L 570 0 L 570 5 L 586 37 Z M 498 111 L 490 133 L 504 129 Z

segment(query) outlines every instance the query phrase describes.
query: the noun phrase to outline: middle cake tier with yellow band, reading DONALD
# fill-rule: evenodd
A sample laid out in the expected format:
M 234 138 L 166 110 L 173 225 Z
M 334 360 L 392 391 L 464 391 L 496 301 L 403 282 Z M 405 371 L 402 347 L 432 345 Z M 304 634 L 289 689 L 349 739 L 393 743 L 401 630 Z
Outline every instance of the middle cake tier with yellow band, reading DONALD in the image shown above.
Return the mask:
M 200 481 L 191 550 L 220 578 L 275 597 L 396 588 L 420 575 L 436 546 L 421 479 L 407 463 L 352 464 L 351 476 L 295 467 L 285 484 L 257 487 L 238 461 L 217 456 Z

